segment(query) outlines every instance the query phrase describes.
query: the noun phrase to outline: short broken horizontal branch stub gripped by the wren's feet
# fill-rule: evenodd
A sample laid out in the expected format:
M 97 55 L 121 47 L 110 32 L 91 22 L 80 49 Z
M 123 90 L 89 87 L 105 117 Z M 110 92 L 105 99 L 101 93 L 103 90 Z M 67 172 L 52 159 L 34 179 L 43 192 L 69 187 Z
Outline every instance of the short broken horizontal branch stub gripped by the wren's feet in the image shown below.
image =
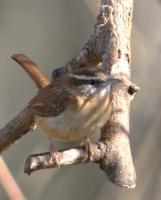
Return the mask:
M 91 144 L 92 160 L 90 162 L 97 162 L 101 158 L 99 144 Z M 84 147 L 78 146 L 59 151 L 59 166 L 73 165 L 78 163 L 89 162 L 87 152 Z M 25 173 L 31 174 L 34 171 L 58 167 L 56 163 L 51 161 L 50 152 L 32 154 L 28 157 L 25 164 Z

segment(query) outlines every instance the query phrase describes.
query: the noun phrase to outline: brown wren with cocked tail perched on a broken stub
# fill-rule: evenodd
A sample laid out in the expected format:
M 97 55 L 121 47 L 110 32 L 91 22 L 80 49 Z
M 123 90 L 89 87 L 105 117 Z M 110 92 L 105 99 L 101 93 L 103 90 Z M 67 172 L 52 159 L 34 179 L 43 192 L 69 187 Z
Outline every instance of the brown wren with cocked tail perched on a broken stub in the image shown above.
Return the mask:
M 28 111 L 35 119 L 34 127 L 49 138 L 67 142 L 101 133 L 112 111 L 112 80 L 107 72 L 98 66 L 84 67 L 49 81 L 29 58 L 26 63 L 24 55 L 12 58 L 23 66 L 39 88 L 28 104 Z M 57 157 L 52 145 L 50 149 L 52 158 Z

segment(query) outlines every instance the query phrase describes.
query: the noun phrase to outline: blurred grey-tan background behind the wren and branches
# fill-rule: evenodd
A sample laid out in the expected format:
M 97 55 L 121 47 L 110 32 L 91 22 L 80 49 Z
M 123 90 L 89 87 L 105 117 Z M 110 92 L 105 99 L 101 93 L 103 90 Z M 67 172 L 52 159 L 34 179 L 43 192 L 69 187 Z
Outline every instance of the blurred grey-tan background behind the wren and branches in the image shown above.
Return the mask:
M 48 150 L 47 137 L 32 132 L 3 154 L 26 199 L 161 199 L 161 4 L 159 0 L 140 0 L 134 4 L 132 77 L 141 87 L 131 109 L 136 189 L 111 184 L 94 164 L 42 170 L 27 176 L 23 172 L 26 157 Z M 99 0 L 0 0 L 1 127 L 37 92 L 10 56 L 25 53 L 50 78 L 54 68 L 64 65 L 84 46 L 93 31 L 99 6 Z M 56 143 L 57 148 L 66 145 Z M 0 200 L 7 199 L 0 183 Z

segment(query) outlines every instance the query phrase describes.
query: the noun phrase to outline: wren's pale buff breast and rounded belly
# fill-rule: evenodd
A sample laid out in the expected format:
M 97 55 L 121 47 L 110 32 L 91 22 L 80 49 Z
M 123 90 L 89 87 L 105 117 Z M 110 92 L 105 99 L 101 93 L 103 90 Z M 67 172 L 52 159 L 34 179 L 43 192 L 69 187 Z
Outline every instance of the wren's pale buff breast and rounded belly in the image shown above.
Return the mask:
M 109 88 L 87 101 L 78 98 L 78 104 L 68 106 L 61 114 L 50 117 L 36 116 L 39 129 L 59 140 L 80 140 L 100 133 L 111 113 Z

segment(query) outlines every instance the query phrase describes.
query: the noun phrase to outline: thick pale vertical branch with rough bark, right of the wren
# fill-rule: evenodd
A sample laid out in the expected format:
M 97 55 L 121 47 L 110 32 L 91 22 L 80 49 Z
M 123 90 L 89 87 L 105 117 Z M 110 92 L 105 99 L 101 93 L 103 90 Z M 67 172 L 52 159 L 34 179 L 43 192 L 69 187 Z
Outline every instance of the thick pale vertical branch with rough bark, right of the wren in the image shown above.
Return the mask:
M 136 180 L 129 142 L 130 101 L 138 90 L 130 80 L 132 11 L 132 0 L 102 0 L 96 29 L 102 67 L 120 80 L 111 86 L 113 110 L 101 133 L 107 150 L 100 167 L 112 182 L 128 188 L 135 187 Z

